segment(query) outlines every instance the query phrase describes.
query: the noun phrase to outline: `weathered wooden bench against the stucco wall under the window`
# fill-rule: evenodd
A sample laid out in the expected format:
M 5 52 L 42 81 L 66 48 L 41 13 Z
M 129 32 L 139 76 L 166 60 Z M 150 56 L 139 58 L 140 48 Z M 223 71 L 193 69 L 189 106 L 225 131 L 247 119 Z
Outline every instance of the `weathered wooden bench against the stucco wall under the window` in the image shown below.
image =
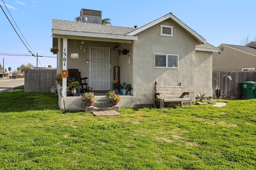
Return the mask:
M 184 92 L 183 86 L 157 85 L 155 82 L 154 107 L 156 107 L 157 102 L 160 102 L 160 109 L 164 109 L 164 102 L 173 101 L 180 101 L 180 106 L 183 105 L 183 101 L 189 101 L 191 107 L 191 98 L 184 98 L 185 95 L 189 95 L 189 93 L 191 92 Z

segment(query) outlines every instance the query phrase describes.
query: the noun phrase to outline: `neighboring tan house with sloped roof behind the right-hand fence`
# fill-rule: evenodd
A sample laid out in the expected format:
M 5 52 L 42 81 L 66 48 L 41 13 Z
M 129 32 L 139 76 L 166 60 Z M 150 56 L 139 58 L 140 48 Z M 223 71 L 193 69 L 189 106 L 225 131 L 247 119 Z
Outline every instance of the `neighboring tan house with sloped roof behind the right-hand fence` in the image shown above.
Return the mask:
M 213 54 L 213 71 L 242 71 L 256 68 L 256 42 L 246 46 L 221 44 Z

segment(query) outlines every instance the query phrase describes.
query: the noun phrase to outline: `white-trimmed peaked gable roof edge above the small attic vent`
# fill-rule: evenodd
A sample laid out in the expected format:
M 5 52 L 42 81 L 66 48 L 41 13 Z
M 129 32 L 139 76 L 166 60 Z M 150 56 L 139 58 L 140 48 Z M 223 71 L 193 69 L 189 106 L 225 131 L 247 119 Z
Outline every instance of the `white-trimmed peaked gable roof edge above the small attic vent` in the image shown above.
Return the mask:
M 185 32 L 187 32 L 188 34 L 190 34 L 190 36 L 192 36 L 193 38 L 195 38 L 198 41 L 198 44 L 196 45 L 200 45 L 200 44 L 204 44 L 206 43 L 206 40 L 200 36 L 199 34 L 197 34 L 194 30 L 192 30 L 191 28 L 189 28 L 186 24 L 184 24 L 182 21 L 180 21 L 178 18 L 176 18 L 174 15 L 172 15 L 172 13 L 169 13 L 157 20 L 154 20 L 152 22 L 150 22 L 149 24 L 146 24 L 145 26 L 142 26 L 140 28 L 138 28 L 137 30 L 134 30 L 126 35 L 129 36 L 134 36 L 156 24 L 159 24 L 160 22 L 167 20 L 167 19 L 172 19 L 174 22 L 176 22 Z

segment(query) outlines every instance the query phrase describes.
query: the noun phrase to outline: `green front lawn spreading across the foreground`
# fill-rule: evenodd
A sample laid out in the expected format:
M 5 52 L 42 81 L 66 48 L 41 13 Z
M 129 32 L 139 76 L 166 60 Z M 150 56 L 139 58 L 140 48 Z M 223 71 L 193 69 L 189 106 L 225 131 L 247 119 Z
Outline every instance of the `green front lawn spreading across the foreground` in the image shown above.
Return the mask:
M 0 93 L 0 169 L 256 169 L 256 99 L 218 108 L 62 112 L 50 93 Z

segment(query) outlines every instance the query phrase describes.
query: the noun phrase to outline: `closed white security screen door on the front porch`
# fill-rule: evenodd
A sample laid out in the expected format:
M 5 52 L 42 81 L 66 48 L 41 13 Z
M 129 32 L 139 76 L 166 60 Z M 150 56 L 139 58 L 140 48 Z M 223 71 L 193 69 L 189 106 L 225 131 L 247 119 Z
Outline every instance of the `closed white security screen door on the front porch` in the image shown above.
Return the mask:
M 90 87 L 109 90 L 110 48 L 90 47 Z

